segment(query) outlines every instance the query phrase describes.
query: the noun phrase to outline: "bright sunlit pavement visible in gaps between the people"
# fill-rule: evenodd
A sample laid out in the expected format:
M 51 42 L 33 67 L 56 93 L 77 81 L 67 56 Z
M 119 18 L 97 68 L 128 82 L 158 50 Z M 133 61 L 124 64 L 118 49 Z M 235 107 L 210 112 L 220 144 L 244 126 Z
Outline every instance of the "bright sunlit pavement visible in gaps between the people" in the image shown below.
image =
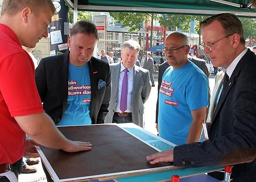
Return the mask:
M 155 79 L 155 87 L 151 88 L 151 93 L 144 104 L 144 120 L 145 120 L 145 130 L 157 134 L 157 130 L 155 128 L 155 109 L 156 109 L 156 103 L 157 103 L 157 75 L 158 73 L 154 73 L 154 79 Z M 215 76 L 210 76 L 209 78 L 209 85 L 211 91 L 213 90 L 215 83 Z M 45 174 L 43 172 L 43 168 L 41 165 L 41 161 L 39 164 L 33 165 L 37 168 L 37 172 L 33 174 L 20 174 L 19 175 L 19 182 L 47 182 Z

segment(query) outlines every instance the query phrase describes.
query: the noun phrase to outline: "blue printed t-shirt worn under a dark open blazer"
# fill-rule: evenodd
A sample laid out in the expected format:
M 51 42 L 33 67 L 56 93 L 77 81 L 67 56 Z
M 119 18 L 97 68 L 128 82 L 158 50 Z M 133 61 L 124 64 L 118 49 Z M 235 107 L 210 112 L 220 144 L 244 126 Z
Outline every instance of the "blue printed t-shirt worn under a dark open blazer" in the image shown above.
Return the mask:
M 77 67 L 69 62 L 67 108 L 57 126 L 90 125 L 90 74 L 88 64 Z

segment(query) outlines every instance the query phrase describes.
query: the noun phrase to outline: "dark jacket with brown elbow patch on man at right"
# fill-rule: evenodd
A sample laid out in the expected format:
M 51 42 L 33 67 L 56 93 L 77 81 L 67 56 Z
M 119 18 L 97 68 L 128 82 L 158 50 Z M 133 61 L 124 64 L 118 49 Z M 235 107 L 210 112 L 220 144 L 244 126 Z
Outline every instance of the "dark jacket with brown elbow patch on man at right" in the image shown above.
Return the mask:
M 210 140 L 176 146 L 175 166 L 233 165 L 232 182 L 256 179 L 256 55 L 235 67 L 213 114 Z M 238 164 L 240 163 L 240 164 Z

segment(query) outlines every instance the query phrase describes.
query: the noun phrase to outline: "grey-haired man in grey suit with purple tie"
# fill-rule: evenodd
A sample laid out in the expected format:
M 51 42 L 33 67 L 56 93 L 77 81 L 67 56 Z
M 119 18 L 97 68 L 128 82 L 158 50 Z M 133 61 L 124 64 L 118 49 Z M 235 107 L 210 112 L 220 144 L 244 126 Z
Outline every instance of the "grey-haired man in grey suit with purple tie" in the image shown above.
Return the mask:
M 123 43 L 122 61 L 110 64 L 112 92 L 105 123 L 135 123 L 144 127 L 144 103 L 151 91 L 148 70 L 135 65 L 140 45 L 134 40 Z

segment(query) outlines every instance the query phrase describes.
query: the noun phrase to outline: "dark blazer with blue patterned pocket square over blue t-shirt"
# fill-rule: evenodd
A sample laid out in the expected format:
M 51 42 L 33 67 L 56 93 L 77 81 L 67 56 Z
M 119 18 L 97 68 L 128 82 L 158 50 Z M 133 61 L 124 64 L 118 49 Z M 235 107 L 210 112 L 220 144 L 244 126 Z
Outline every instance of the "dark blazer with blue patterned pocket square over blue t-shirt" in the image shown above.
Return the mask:
M 91 57 L 89 64 L 92 124 L 104 123 L 108 113 L 111 92 L 111 77 L 108 63 Z M 65 113 L 68 98 L 69 52 L 41 59 L 35 74 L 37 89 L 43 109 L 57 124 Z M 99 79 L 106 86 L 98 90 Z

